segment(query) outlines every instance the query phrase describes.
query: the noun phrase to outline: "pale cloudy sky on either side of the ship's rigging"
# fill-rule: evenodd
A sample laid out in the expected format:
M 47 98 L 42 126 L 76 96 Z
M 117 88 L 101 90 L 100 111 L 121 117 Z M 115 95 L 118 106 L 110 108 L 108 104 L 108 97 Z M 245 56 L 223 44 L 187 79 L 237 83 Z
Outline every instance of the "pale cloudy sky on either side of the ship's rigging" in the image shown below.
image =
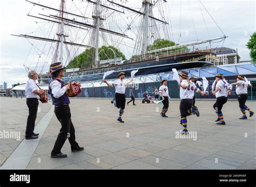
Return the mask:
M 135 6 L 134 3 L 138 2 L 136 0 L 128 1 L 133 3 L 133 6 Z M 198 0 L 189 0 L 190 9 L 188 0 L 181 0 L 181 3 L 180 0 L 167 1 L 170 7 L 167 8 L 169 11 L 165 12 L 165 17 L 171 19 L 172 35 L 175 42 L 181 43 L 181 41 L 209 39 L 209 37 L 215 38 L 223 35 L 206 12 L 204 12 L 205 20 L 199 18 L 201 12 Z M 33 0 L 33 2 L 49 5 L 50 2 L 57 1 Z M 119 0 L 116 2 L 119 2 Z M 238 54 L 241 57 L 240 61 L 251 60 L 250 51 L 245 45 L 250 39 L 250 35 L 255 32 L 256 1 L 201 0 L 201 2 L 205 5 L 221 30 L 228 36 L 223 46 L 238 49 Z M 138 3 L 138 5 L 140 4 Z M 180 9 L 180 4 L 182 4 L 182 9 Z M 54 4 L 52 6 L 58 8 Z M 35 19 L 26 16 L 31 11 L 31 8 L 32 4 L 24 0 L 0 1 L 0 85 L 3 82 L 7 82 L 10 88 L 11 84 L 25 83 L 28 80 L 23 64 L 27 65 L 27 62 L 33 59 L 33 56 L 30 56 L 31 44 L 24 38 L 14 37 L 10 34 L 24 34 L 35 30 Z M 179 29 L 180 15 L 181 29 Z M 158 15 L 155 16 L 158 17 Z M 193 21 L 196 25 L 196 33 L 194 32 L 191 16 L 193 16 Z M 204 21 L 209 34 L 206 32 Z M 179 32 L 183 35 L 182 39 L 179 38 Z M 198 38 L 195 37 L 196 35 Z M 124 54 L 129 59 L 132 55 L 132 49 L 125 50 Z

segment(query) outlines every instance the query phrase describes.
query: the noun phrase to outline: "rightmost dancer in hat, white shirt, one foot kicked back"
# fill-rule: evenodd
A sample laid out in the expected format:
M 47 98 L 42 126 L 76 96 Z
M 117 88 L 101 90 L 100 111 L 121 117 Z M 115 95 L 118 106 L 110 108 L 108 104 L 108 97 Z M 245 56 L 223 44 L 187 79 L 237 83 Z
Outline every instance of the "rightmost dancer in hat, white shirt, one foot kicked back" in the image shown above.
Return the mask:
M 242 117 L 239 119 L 247 119 L 246 114 L 245 114 L 245 110 L 247 110 L 248 112 L 250 112 L 250 117 L 253 116 L 254 112 L 251 111 L 251 109 L 249 109 L 248 106 L 245 105 L 245 102 L 247 100 L 247 88 L 252 87 L 252 85 L 247 84 L 244 81 L 244 76 L 242 75 L 238 75 L 237 76 L 237 82 L 230 84 L 231 86 L 235 85 L 235 92 L 238 95 L 238 102 L 239 102 L 239 107 L 240 110 L 242 112 Z

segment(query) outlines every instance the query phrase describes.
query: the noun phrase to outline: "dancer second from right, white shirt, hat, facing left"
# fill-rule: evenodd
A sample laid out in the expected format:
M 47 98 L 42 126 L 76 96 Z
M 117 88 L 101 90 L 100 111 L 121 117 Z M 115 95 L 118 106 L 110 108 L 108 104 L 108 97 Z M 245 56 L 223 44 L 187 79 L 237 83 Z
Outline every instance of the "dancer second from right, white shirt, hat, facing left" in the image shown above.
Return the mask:
M 227 95 L 228 95 L 228 85 L 225 81 L 223 81 L 224 77 L 223 74 L 216 74 L 216 85 L 215 90 L 212 92 L 213 95 L 217 98 L 216 103 L 213 105 L 215 112 L 218 114 L 218 119 L 216 124 L 218 125 L 225 125 L 223 113 L 221 109 L 223 105 L 227 102 Z

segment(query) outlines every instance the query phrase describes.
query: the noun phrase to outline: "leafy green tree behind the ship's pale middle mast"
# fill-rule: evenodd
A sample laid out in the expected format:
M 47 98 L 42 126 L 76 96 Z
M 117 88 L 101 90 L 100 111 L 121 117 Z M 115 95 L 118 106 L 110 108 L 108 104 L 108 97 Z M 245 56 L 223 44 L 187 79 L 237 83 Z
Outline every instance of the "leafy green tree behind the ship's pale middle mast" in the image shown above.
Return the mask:
M 119 51 L 119 49 L 113 46 L 102 46 L 99 48 L 99 60 L 107 60 L 113 59 L 114 53 L 111 49 L 113 49 L 116 57 L 122 57 L 123 60 L 126 60 L 125 55 Z M 85 49 L 85 51 L 76 57 L 74 57 L 68 64 L 67 68 L 92 68 L 92 65 L 95 63 L 95 48 L 91 47 L 89 49 Z

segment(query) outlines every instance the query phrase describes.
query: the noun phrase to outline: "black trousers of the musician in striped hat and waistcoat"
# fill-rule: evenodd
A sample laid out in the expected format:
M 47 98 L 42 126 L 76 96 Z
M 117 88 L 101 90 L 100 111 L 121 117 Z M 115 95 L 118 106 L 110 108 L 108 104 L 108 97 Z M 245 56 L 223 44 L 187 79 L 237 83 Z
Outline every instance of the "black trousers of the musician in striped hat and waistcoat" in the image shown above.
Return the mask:
M 59 105 L 55 106 L 54 113 L 56 114 L 57 119 L 59 120 L 62 128 L 60 128 L 57 140 L 52 149 L 51 154 L 60 153 L 66 139 L 69 139 L 71 149 L 79 148 L 78 143 L 76 142 L 75 128 L 71 121 L 71 113 L 69 105 Z

